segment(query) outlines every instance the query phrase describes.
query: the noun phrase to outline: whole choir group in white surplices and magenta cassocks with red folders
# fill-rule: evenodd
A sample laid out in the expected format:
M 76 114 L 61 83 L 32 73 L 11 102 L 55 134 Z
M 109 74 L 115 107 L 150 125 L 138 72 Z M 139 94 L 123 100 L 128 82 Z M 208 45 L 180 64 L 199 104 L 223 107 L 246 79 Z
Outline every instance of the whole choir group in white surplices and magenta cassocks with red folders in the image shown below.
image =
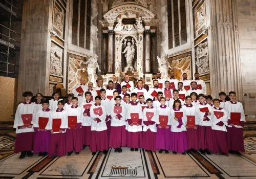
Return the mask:
M 125 75 L 121 84 L 109 81 L 105 87 L 100 79 L 93 88 L 92 82 L 81 79 L 67 103 L 58 93 L 49 101 L 37 94 L 31 102 L 33 94 L 24 92 L 14 120 L 14 152 L 21 152 L 20 159 L 33 153 L 69 156 L 87 146 L 92 154 L 105 154 L 111 147 L 122 152 L 125 146 L 174 154 L 244 152 L 245 115 L 236 92 L 229 92 L 229 101 L 224 92 L 218 99 L 205 96 L 206 85 L 198 73 L 195 80 L 183 74 L 182 81 L 174 79 L 173 72 L 168 80 L 158 73 L 153 87 L 143 83 L 138 80 L 134 87 Z

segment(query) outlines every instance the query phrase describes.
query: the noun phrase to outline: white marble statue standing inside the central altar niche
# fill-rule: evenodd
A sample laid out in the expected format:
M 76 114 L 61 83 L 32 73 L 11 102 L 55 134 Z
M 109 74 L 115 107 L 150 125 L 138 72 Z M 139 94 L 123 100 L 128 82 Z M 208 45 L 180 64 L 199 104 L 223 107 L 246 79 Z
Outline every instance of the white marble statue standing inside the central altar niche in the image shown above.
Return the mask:
M 124 68 L 124 72 L 126 72 L 129 69 L 131 71 L 134 71 L 132 63 L 133 63 L 133 59 L 135 56 L 135 48 L 134 48 L 134 45 L 132 45 L 130 41 L 127 42 L 127 46 L 124 49 L 124 51 L 122 52 L 122 54 L 125 54 L 124 57 L 125 57 L 126 63 L 127 63 L 127 66 L 125 66 L 125 68 Z

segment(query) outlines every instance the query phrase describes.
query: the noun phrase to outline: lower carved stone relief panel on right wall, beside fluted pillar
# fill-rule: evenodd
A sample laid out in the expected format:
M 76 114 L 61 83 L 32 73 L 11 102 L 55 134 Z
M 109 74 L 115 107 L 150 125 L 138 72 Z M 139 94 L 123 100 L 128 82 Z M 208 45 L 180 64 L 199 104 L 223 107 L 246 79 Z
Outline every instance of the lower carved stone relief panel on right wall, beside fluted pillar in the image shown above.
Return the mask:
M 196 71 L 200 75 L 209 73 L 208 41 L 207 39 L 199 43 L 195 49 Z

